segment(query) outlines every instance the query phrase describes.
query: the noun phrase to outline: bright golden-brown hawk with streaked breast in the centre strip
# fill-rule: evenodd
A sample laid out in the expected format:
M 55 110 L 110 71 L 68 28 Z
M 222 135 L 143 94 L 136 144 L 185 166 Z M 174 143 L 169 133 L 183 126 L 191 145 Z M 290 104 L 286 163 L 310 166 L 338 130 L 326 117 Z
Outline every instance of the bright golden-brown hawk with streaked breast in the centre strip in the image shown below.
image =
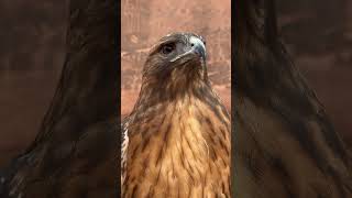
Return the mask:
M 122 122 L 122 197 L 230 197 L 230 117 L 208 79 L 205 45 L 173 33 L 147 56 Z

